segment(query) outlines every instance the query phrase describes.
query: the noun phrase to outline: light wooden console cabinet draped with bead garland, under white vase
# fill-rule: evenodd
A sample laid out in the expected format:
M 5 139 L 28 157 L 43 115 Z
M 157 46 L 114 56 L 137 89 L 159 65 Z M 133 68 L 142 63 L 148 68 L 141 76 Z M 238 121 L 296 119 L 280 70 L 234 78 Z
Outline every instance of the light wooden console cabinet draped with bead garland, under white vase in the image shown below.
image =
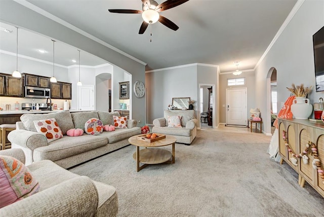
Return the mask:
M 311 185 L 321 196 L 324 197 L 324 184 L 318 175 L 317 169 L 312 167 L 314 156 L 307 154 L 308 163 L 304 164 L 301 158 L 298 158 L 297 166 L 291 161 L 293 157 L 285 145 L 284 134 L 288 139 L 289 147 L 293 153 L 299 155 L 306 149 L 309 142 L 313 142 L 317 148 L 318 159 L 321 168 L 324 168 L 324 124 L 322 122 L 310 122 L 302 119 L 278 119 L 279 134 L 279 154 L 280 163 L 286 161 L 299 174 L 299 185 L 304 187 L 305 181 Z M 311 147 L 309 148 L 311 149 Z

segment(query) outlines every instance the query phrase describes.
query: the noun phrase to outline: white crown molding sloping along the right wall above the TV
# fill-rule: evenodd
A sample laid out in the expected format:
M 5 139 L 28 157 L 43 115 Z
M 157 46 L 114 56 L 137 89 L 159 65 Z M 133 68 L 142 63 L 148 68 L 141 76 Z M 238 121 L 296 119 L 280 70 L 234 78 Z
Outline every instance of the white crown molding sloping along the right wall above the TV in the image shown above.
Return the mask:
M 295 16 L 295 14 L 299 10 L 299 8 L 303 5 L 304 2 L 305 2 L 305 0 L 298 0 L 297 1 L 297 3 L 295 4 L 295 6 L 293 7 L 293 9 L 291 10 L 291 12 L 289 13 L 289 15 L 287 16 L 286 20 L 284 21 L 284 23 L 282 23 L 282 25 L 280 26 L 279 30 L 274 35 L 274 38 L 272 39 L 270 45 L 267 47 L 267 49 L 265 50 L 265 52 L 263 53 L 263 55 L 261 56 L 261 58 L 259 59 L 259 61 L 257 62 L 257 64 L 254 66 L 254 70 L 256 70 L 256 68 L 260 65 L 260 63 L 262 62 L 262 60 L 265 58 L 265 56 L 269 53 L 269 51 L 271 50 L 271 48 L 274 45 L 274 43 L 277 41 L 277 39 L 279 38 L 279 36 L 281 35 L 281 33 L 288 26 L 288 24 L 293 19 L 293 17 Z

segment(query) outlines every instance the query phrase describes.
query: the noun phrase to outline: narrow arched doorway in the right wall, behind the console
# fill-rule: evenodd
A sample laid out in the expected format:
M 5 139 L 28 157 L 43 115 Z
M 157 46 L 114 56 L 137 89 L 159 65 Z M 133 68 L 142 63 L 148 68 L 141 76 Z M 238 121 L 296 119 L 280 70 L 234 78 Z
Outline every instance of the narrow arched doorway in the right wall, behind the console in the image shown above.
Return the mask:
M 275 129 L 272 124 L 279 112 L 277 110 L 277 70 L 271 67 L 267 75 L 267 126 L 265 126 L 266 132 L 271 132 L 271 134 Z

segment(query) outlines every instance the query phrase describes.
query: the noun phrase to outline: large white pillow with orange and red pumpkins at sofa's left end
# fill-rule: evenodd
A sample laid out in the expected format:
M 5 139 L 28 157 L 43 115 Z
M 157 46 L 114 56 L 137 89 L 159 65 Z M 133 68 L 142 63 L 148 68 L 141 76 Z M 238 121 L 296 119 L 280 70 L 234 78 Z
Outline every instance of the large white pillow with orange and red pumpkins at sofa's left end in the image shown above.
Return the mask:
M 62 130 L 55 118 L 34 121 L 34 125 L 37 132 L 43 133 L 46 136 L 47 142 L 51 142 L 63 137 Z

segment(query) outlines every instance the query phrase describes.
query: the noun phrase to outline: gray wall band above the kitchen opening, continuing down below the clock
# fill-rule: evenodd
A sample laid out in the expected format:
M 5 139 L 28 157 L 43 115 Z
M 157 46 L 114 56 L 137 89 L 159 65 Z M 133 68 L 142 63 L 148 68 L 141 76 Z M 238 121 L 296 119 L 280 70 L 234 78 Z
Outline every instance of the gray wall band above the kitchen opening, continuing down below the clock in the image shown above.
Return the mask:
M 47 35 L 80 50 L 87 51 L 132 74 L 133 80 L 145 80 L 145 66 L 84 35 L 73 31 L 14 1 L 0 1 L 0 20 L 20 28 Z M 14 12 L 14 13 L 13 13 Z M 133 118 L 145 120 L 145 98 L 132 98 Z M 136 112 L 134 112 L 136 111 Z M 144 121 L 143 121 L 144 122 Z M 143 123 L 142 122 L 142 123 Z

